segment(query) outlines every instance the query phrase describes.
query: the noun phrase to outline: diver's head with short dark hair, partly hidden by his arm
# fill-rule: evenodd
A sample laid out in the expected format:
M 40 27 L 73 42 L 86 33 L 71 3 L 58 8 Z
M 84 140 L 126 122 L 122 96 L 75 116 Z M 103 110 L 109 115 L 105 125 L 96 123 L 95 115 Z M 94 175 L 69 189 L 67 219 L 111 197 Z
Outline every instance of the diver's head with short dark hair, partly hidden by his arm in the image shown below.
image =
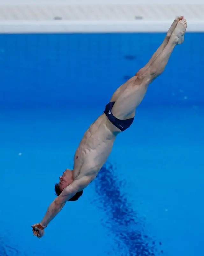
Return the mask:
M 62 190 L 69 186 L 73 182 L 73 171 L 66 169 L 60 176 L 60 182 L 55 184 L 55 194 L 59 196 L 62 193 Z M 77 192 L 72 198 L 68 201 L 77 201 L 79 197 L 83 194 L 83 191 Z

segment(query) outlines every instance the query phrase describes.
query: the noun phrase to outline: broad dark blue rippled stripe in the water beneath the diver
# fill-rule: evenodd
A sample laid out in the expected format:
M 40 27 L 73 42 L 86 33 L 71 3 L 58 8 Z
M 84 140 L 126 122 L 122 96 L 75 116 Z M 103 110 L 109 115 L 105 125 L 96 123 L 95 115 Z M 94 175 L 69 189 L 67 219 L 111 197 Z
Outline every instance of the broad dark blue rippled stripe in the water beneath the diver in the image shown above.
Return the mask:
M 163 255 L 163 251 L 158 249 L 161 242 L 154 241 L 145 233 L 145 219 L 133 210 L 131 203 L 121 192 L 120 188 L 125 183 L 118 180 L 115 169 L 112 164 L 105 164 L 94 183 L 97 206 L 107 216 L 102 224 L 114 234 L 115 242 L 121 249 L 120 255 Z

